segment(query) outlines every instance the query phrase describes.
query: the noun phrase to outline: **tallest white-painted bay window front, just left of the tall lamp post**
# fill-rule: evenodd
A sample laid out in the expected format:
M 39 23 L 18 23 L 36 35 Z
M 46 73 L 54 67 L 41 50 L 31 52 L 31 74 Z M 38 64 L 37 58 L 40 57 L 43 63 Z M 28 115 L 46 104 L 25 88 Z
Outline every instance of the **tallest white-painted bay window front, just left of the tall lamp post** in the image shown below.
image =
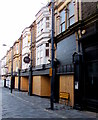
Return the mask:
M 48 40 L 51 32 L 50 21 L 49 8 L 45 6 L 36 14 L 36 66 L 49 63 L 50 44 Z

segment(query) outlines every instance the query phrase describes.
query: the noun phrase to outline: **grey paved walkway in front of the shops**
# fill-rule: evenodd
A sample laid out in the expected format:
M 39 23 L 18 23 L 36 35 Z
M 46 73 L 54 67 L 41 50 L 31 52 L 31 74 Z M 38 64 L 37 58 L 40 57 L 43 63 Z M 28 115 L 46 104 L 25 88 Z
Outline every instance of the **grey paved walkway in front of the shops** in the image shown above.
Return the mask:
M 2 95 L 1 95 L 2 94 Z M 45 119 L 96 119 L 96 113 L 79 111 L 68 106 L 55 103 L 54 110 L 50 107 L 48 98 L 28 96 L 27 92 L 13 90 L 0 86 L 0 115 L 5 118 L 45 118 Z

